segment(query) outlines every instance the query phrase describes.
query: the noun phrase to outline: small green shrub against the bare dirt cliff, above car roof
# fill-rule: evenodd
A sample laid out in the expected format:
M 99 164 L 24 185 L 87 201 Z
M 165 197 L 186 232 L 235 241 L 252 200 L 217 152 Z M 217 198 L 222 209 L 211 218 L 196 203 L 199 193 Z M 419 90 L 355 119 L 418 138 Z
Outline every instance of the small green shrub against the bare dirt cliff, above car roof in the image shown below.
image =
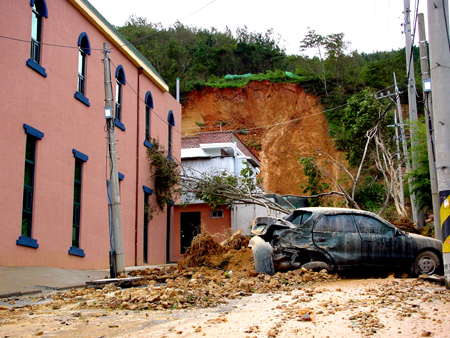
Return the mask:
M 297 156 L 299 167 L 303 167 L 303 174 L 308 178 L 306 184 L 302 184 L 303 193 L 310 193 L 310 195 L 319 195 L 325 192 L 329 186 L 327 183 L 322 182 L 322 172 L 320 171 L 315 157 L 299 157 Z M 320 197 L 311 199 L 310 206 L 320 206 L 322 199 Z

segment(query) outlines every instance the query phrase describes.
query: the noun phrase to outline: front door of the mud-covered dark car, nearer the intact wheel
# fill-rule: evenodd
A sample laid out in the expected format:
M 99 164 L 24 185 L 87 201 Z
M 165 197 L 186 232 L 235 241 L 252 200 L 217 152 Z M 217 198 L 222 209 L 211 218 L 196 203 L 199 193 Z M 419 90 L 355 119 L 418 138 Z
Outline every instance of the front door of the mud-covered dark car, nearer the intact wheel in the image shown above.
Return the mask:
M 374 266 L 396 265 L 394 256 L 395 228 L 369 215 L 355 214 L 354 217 L 361 233 L 363 264 Z

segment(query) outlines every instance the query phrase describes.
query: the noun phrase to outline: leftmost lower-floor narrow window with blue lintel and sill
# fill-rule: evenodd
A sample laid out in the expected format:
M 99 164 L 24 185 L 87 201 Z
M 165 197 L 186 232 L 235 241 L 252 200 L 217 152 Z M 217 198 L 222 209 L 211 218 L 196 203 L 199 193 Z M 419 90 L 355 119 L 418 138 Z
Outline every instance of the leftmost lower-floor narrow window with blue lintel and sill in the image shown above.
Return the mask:
M 22 225 L 18 245 L 38 248 L 35 239 L 32 239 L 33 201 L 34 201 L 34 172 L 36 166 L 36 143 L 44 137 L 44 133 L 26 124 L 23 125 L 26 133 L 25 144 L 25 173 L 22 200 Z

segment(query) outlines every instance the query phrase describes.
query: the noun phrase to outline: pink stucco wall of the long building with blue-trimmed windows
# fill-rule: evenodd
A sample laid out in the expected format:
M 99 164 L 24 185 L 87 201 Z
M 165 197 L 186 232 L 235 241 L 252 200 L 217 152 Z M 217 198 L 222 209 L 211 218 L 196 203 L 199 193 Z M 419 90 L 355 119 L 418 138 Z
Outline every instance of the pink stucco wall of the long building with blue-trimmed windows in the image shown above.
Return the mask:
M 49 15 L 43 19 L 42 42 L 47 45 L 42 46 L 40 64 L 45 68 L 47 77 L 26 65 L 30 57 L 30 2 L 5 0 L 0 11 L 2 35 L 15 39 L 3 38 L 0 41 L 0 265 L 107 268 L 108 162 L 101 49 L 103 42 L 108 40 L 69 1 L 46 0 L 46 3 Z M 86 70 L 86 97 L 90 107 L 74 98 L 77 90 L 77 41 L 82 32 L 87 33 L 91 46 Z M 112 42 L 110 47 L 114 47 Z M 177 130 L 181 129 L 181 106 L 147 76 L 139 75 L 136 66 L 118 49 L 113 49 L 110 57 L 113 82 L 118 65 L 123 66 L 127 81 L 123 86 L 122 99 L 122 122 L 126 130 L 115 129 L 118 170 L 125 175 L 120 183 L 125 265 L 141 265 L 144 221 L 142 186 L 154 188 L 154 183 L 149 179 L 146 147 L 143 145 L 143 100 L 145 93 L 151 91 L 154 102 L 151 136 L 159 138 L 163 145 L 168 142 L 165 121 L 169 110 L 173 111 L 175 158 L 180 158 L 181 141 Z M 37 240 L 37 249 L 16 244 L 22 219 L 24 123 L 44 133 L 36 148 L 31 237 Z M 72 149 L 89 156 L 83 164 L 81 197 L 80 248 L 84 250 L 85 257 L 68 254 L 72 238 L 75 163 Z M 153 196 L 151 201 L 154 202 Z M 166 220 L 165 213 L 156 213 L 150 221 L 149 264 L 166 261 Z

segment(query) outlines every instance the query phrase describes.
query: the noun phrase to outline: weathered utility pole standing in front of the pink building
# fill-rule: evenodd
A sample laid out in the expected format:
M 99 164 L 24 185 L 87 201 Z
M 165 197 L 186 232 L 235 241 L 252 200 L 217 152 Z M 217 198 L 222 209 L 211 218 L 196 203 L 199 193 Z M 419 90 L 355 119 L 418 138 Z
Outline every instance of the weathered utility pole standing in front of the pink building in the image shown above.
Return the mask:
M 110 159 L 110 186 L 111 209 L 113 223 L 114 248 L 117 274 L 125 273 L 125 260 L 122 241 L 122 217 L 120 211 L 119 171 L 117 169 L 116 135 L 114 133 L 114 102 L 111 83 L 111 66 L 109 59 L 109 44 L 103 43 L 103 66 L 105 79 L 105 118 L 108 132 L 109 159 Z M 117 277 L 117 276 L 111 276 Z

